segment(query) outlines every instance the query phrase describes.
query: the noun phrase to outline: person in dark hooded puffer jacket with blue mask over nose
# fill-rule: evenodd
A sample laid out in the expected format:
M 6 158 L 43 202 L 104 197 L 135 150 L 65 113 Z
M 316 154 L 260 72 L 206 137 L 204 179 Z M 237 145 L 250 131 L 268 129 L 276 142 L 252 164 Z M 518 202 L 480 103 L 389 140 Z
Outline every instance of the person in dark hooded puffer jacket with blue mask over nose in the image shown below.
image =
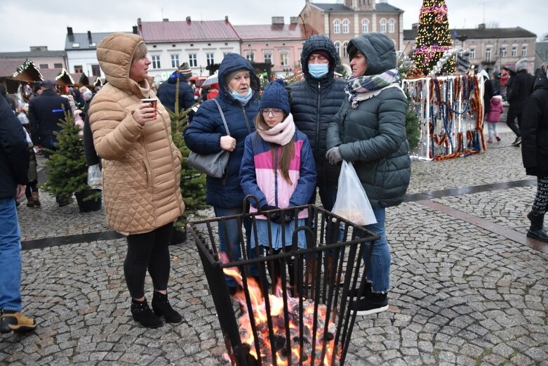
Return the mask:
M 329 122 L 345 99 L 346 82 L 335 78 L 339 54 L 333 41 L 315 34 L 302 46 L 300 63 L 305 79 L 290 85 L 291 114 L 300 131 L 304 132 L 314 154 L 321 204 L 333 209 L 337 196 L 339 166 L 326 160 L 326 131 Z M 316 190 L 309 203 L 316 202 Z

